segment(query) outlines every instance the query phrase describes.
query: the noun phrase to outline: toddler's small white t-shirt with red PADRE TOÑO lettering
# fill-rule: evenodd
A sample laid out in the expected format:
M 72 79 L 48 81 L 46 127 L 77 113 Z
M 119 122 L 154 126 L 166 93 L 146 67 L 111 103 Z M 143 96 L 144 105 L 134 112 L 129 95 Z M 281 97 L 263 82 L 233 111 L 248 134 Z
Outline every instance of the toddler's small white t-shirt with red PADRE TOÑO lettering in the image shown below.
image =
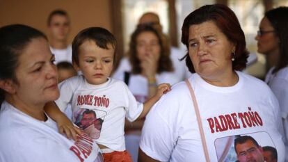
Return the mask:
M 61 97 L 56 104 L 61 111 L 71 104 L 75 124 L 79 125 L 86 109 L 95 111 L 97 119 L 104 121 L 95 141 L 115 151 L 125 150 L 125 116 L 131 122 L 136 120 L 143 104 L 136 102 L 124 82 L 109 78 L 101 85 L 91 85 L 83 76 L 74 76 L 60 83 L 59 89 Z

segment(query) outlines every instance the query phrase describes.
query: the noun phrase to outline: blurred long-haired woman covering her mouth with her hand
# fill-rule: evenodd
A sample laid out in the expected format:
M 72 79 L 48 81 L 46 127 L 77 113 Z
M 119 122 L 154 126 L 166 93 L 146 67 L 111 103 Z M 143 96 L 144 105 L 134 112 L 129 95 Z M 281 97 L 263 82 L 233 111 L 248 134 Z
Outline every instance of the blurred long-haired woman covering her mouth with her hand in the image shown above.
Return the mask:
M 137 26 L 131 35 L 128 59 L 122 59 L 121 64 L 131 65 L 131 68 L 126 72 L 118 70 L 113 77 L 125 81 L 138 102 L 143 103 L 153 96 L 160 83 L 172 85 L 182 81 L 174 72 L 168 42 L 162 33 L 150 25 Z M 138 159 L 143 121 L 125 123 L 125 143 L 134 161 Z

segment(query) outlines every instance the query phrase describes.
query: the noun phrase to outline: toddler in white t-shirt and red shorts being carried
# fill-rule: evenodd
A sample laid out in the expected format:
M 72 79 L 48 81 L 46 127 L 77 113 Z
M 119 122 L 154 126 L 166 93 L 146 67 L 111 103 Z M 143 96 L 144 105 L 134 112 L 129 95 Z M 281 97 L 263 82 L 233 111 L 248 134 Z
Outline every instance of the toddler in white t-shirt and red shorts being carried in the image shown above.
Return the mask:
M 72 104 L 72 122 L 94 138 L 104 161 L 131 161 L 125 151 L 125 117 L 131 122 L 145 117 L 170 86 L 161 84 L 157 94 L 145 104 L 136 102 L 124 82 L 109 78 L 115 45 L 114 36 L 106 29 L 92 27 L 81 31 L 72 42 L 72 60 L 83 75 L 59 84 L 61 97 L 56 104 L 61 111 Z M 49 103 L 45 109 L 53 119 L 57 116 L 55 107 Z

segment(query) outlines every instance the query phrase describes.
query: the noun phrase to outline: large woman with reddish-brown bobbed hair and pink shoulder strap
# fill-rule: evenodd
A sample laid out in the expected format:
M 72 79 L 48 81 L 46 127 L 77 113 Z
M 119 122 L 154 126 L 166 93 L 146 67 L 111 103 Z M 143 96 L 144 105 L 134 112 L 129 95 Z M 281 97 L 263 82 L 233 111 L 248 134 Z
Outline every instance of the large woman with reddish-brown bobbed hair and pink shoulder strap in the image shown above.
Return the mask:
M 259 145 L 275 147 L 284 161 L 277 99 L 265 83 L 238 71 L 248 52 L 233 11 L 220 4 L 193 11 L 184 20 L 182 42 L 194 74 L 147 115 L 139 160 L 264 161 L 260 148 L 251 156 L 253 145 L 241 143 L 235 153 L 233 140 L 249 134 Z

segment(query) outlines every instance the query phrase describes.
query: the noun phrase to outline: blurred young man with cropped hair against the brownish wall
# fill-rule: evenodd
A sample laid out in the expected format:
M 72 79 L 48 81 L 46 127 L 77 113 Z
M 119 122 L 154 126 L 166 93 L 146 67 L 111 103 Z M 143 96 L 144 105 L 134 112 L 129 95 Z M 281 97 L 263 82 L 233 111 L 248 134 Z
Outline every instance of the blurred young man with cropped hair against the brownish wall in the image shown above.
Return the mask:
M 56 64 L 62 61 L 72 63 L 72 47 L 67 37 L 70 33 L 70 18 L 65 10 L 54 10 L 47 19 L 49 44 Z

